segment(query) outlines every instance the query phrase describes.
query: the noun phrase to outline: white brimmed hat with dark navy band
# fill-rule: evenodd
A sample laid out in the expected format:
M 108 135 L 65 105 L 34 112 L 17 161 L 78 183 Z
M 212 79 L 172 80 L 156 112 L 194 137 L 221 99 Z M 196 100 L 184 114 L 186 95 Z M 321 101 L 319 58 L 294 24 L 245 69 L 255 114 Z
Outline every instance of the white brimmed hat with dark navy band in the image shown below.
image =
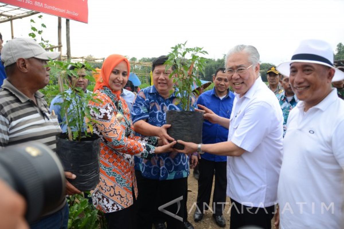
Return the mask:
M 335 70 L 332 82 L 344 79 L 344 72 L 336 69 L 333 64 L 333 50 L 327 42 L 309 39 L 301 41 L 299 47 L 294 51 L 290 61 L 283 62 L 277 66 L 277 70 L 284 76 L 290 75 L 290 64 L 293 62 L 306 62 L 325 65 Z

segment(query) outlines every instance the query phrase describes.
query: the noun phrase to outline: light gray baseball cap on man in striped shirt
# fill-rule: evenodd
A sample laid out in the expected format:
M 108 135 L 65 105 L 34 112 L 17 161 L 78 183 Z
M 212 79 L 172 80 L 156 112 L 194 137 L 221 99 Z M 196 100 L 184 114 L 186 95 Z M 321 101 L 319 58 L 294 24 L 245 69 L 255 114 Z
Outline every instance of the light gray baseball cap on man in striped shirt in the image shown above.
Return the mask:
M 3 45 L 1 50 L 1 60 L 4 62 L 4 67 L 9 66 L 19 58 L 28 59 L 35 57 L 41 60 L 57 59 L 60 53 L 45 51 L 32 38 L 14 38 Z

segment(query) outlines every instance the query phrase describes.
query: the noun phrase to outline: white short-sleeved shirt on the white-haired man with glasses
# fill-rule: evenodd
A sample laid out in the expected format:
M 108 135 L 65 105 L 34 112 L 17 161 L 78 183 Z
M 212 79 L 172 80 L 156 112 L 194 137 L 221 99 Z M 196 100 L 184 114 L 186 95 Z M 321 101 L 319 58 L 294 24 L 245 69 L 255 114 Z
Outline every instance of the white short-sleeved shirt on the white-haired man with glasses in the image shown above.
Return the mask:
M 246 150 L 227 158 L 227 195 L 252 207 L 277 201 L 282 162 L 283 114 L 275 94 L 259 77 L 234 99 L 228 141 Z

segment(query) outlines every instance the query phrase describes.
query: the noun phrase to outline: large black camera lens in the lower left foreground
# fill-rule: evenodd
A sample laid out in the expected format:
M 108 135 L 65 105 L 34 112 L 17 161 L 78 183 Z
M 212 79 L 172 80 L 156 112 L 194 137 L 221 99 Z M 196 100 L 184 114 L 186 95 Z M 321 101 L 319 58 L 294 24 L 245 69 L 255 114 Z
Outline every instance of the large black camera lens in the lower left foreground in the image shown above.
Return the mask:
M 29 222 L 54 210 L 65 198 L 63 167 L 55 153 L 41 143 L 2 149 L 0 179 L 25 198 Z

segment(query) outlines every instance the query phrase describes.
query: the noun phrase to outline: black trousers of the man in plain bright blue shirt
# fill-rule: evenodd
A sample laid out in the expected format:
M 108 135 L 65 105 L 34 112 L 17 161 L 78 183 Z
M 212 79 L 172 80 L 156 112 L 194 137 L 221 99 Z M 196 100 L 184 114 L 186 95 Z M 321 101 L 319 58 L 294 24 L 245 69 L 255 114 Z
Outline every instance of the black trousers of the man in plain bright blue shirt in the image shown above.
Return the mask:
M 215 162 L 201 159 L 198 168 L 200 170 L 200 178 L 198 179 L 198 194 L 197 206 L 203 213 L 208 207 L 213 209 L 214 214 L 221 216 L 226 202 L 226 189 L 227 189 L 227 162 Z M 215 171 L 215 187 L 213 194 L 213 202 L 209 205 L 210 196 L 212 193 L 213 177 Z M 222 203 L 222 204 L 221 204 Z M 207 205 L 205 205 L 207 204 Z

